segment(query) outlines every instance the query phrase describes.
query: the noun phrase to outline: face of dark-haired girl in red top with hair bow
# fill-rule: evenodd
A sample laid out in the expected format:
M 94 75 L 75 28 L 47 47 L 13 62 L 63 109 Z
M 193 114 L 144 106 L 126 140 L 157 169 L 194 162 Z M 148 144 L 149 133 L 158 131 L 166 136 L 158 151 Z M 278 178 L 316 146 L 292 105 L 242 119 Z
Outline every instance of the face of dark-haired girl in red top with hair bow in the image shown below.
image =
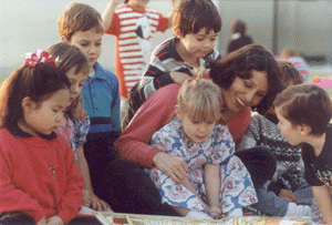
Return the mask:
M 38 133 L 51 134 L 64 119 L 64 111 L 69 104 L 68 89 L 58 91 L 40 105 L 32 101 L 31 106 L 24 110 L 25 132 L 34 136 L 39 136 Z

